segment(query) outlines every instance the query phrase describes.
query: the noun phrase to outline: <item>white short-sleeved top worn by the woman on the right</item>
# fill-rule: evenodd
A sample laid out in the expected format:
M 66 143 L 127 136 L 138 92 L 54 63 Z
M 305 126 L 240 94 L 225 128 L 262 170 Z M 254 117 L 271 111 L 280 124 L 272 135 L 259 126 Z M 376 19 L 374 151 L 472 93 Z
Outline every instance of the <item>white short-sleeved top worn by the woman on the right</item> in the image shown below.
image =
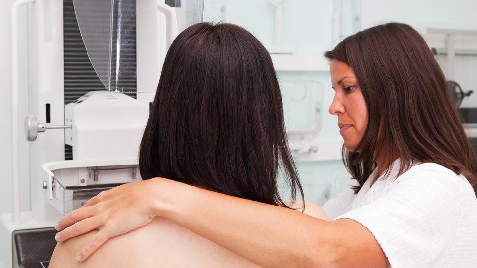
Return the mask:
M 399 165 L 371 186 L 375 170 L 358 194 L 349 187 L 323 209 L 368 228 L 393 268 L 477 267 L 477 198 L 467 179 L 435 163 L 396 178 Z

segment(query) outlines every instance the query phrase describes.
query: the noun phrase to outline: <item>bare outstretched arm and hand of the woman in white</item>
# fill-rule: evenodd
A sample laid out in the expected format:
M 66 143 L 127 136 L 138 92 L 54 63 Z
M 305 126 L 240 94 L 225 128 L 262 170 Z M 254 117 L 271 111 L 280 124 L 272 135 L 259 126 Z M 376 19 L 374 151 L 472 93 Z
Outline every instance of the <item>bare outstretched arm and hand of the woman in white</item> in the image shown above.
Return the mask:
M 325 221 L 164 178 L 117 186 L 91 198 L 57 225 L 55 239 L 99 230 L 77 260 L 109 238 L 166 217 L 262 266 L 387 267 L 372 233 L 349 219 Z

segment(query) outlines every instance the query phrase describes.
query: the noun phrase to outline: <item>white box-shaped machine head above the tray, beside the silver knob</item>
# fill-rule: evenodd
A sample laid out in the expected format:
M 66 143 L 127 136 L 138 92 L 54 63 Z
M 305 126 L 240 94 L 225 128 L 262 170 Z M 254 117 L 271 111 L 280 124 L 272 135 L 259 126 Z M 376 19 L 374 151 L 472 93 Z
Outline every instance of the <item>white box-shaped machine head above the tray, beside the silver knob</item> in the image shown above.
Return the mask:
M 65 144 L 74 160 L 136 157 L 148 105 L 125 94 L 90 91 L 65 105 Z

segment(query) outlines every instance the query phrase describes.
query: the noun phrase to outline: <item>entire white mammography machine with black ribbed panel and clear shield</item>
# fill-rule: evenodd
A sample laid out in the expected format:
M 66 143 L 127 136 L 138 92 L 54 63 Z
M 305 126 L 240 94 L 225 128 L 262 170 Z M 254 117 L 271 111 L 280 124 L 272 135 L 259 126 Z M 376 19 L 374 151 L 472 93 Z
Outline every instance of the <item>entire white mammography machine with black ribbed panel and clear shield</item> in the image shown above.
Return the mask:
M 47 267 L 56 245 L 54 225 L 63 215 L 100 191 L 141 180 L 138 148 L 162 59 L 178 27 L 201 20 L 201 3 L 13 3 L 14 206 L 0 215 L 0 267 Z M 22 8 L 28 9 L 28 51 L 18 49 Z M 19 87 L 19 55 L 25 54 L 28 89 Z M 19 99 L 20 90 L 28 90 L 28 100 Z M 29 155 L 19 155 L 22 102 L 28 102 L 30 113 L 25 119 Z M 30 163 L 29 192 L 20 187 L 27 179 L 19 176 L 24 159 Z M 31 209 L 21 211 L 20 200 L 27 198 Z

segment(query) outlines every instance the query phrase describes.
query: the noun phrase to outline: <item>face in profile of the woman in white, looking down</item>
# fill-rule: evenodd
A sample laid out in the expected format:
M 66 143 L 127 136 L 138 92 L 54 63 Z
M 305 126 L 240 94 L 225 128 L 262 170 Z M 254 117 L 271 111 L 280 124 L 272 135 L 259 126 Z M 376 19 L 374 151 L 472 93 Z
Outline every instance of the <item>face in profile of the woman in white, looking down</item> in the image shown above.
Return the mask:
M 329 113 L 338 116 L 338 127 L 348 151 L 355 151 L 368 124 L 368 108 L 351 66 L 338 60 L 330 63 L 335 91 Z

